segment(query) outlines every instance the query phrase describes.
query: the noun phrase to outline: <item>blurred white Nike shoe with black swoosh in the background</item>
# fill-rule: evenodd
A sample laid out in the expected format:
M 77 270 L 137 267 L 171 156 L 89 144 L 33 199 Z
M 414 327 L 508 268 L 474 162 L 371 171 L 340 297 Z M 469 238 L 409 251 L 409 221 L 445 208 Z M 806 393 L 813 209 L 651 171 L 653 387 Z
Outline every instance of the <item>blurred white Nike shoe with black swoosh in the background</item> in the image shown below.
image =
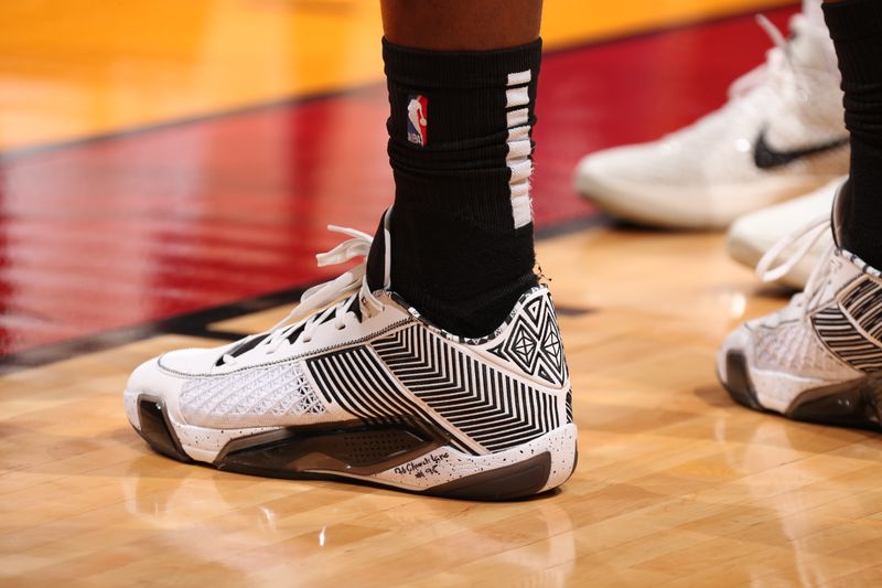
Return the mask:
M 810 192 L 848 171 L 848 135 L 832 44 L 802 14 L 766 63 L 738 79 L 719 110 L 653 142 L 589 154 L 576 189 L 615 216 L 714 228 Z

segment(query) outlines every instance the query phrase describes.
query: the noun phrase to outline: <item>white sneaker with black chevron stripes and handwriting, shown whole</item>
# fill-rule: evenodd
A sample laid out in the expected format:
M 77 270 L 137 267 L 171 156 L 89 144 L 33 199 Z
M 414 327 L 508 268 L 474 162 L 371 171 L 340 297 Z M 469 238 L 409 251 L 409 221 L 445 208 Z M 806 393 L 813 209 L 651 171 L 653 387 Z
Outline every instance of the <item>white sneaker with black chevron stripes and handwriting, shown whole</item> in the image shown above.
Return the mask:
M 388 213 L 386 217 L 388 226 Z M 318 256 L 367 256 L 370 236 Z M 366 265 L 308 290 L 271 330 L 150 360 L 125 392 L 158 452 L 282 478 L 361 481 L 475 500 L 528 496 L 576 468 L 570 377 L 548 289 L 521 296 L 493 334 L 444 332 Z

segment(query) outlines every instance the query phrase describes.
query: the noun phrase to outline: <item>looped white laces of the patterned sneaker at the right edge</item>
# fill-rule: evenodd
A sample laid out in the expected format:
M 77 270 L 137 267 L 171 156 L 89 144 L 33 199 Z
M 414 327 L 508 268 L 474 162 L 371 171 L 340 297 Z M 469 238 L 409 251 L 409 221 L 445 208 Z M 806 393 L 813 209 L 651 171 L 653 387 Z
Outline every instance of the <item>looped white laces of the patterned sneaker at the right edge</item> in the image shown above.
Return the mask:
M 811 247 L 817 243 L 821 236 L 830 231 L 830 215 L 826 214 L 818 218 L 813 220 L 810 223 L 799 227 L 789 235 L 782 237 L 775 245 L 768 249 L 765 255 L 756 264 L 756 275 L 763 281 L 774 281 L 783 278 L 790 271 L 796 264 L 803 259 Z M 796 249 L 790 254 L 782 264 L 773 267 L 773 264 L 781 257 L 781 255 L 789 247 L 796 246 Z M 827 259 L 832 255 L 836 245 L 830 244 L 820 257 L 818 264 L 811 270 L 811 274 L 806 281 L 806 287 L 802 292 L 795 295 L 790 303 L 795 303 L 803 308 L 803 317 L 808 313 L 811 302 L 817 293 L 820 292 L 818 286 L 827 272 L 829 264 Z

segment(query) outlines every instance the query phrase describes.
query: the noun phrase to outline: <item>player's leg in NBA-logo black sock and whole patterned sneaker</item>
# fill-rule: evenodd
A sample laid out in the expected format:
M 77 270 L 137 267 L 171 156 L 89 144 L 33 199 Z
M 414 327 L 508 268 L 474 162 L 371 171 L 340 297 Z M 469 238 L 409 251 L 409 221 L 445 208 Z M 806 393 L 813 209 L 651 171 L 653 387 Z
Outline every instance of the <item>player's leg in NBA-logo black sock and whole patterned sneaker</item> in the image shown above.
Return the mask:
M 267 332 L 141 365 L 158 451 L 219 469 L 508 499 L 576 466 L 570 379 L 533 272 L 539 0 L 384 1 L 396 197 L 367 257 Z

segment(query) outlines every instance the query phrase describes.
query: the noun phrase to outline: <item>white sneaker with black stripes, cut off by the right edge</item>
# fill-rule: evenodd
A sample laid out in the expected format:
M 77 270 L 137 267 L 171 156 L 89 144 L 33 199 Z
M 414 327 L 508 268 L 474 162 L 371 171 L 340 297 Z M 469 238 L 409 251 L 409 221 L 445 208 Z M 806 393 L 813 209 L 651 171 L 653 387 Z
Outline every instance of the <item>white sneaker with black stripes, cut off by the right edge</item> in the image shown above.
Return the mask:
M 882 276 L 830 246 L 804 292 L 727 338 L 717 371 L 732 398 L 751 408 L 879 429 Z

